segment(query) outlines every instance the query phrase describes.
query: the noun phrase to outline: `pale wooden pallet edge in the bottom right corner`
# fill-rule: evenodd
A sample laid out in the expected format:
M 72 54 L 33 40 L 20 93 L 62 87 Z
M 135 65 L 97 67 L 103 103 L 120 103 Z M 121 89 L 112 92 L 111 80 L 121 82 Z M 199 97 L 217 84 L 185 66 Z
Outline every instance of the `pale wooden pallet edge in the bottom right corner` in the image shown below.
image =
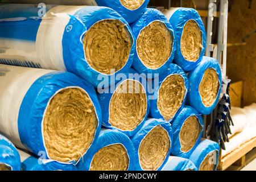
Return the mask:
M 249 142 L 242 144 L 236 150 L 226 155 L 221 159 L 220 164 L 218 165 L 218 170 L 225 170 L 226 168 L 232 166 L 237 160 L 242 158 L 242 156 L 246 155 L 248 152 L 253 150 L 256 147 L 256 138 L 251 139 Z

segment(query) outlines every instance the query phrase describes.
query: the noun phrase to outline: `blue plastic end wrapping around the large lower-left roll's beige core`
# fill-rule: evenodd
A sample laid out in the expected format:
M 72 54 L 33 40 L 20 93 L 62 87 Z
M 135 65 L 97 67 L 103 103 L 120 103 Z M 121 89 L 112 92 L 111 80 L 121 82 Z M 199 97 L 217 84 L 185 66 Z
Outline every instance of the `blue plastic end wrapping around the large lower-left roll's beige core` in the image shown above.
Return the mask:
M 20 140 L 27 150 L 31 151 L 33 154 L 38 155 L 40 151 L 44 151 L 47 154 L 42 134 L 44 112 L 49 100 L 51 100 L 58 90 L 70 87 L 79 87 L 85 90 L 94 105 L 98 126 L 94 134 L 93 142 L 86 153 L 92 150 L 91 146 L 96 142 L 101 128 L 101 108 L 93 86 L 72 73 L 52 72 L 38 78 L 34 84 L 32 84 L 26 96 L 23 98 L 19 110 L 18 130 Z M 47 159 L 49 159 L 48 155 Z M 67 164 L 77 162 L 71 161 L 67 162 Z

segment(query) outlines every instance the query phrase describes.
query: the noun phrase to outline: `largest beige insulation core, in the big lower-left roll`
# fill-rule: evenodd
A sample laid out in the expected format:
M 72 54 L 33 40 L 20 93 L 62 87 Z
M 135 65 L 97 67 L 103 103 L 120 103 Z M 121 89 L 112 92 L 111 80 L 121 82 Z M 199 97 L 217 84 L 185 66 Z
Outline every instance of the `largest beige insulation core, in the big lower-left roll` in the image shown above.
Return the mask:
M 63 89 L 51 99 L 43 120 L 43 137 L 50 159 L 79 160 L 93 142 L 98 119 L 88 94 Z

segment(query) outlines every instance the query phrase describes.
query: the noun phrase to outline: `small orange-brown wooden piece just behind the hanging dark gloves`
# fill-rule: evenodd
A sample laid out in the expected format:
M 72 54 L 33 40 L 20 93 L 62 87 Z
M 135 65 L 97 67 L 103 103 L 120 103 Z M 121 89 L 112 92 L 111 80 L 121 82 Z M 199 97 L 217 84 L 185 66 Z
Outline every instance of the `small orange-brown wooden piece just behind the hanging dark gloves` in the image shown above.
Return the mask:
M 233 107 L 241 107 L 243 82 L 238 81 L 230 84 L 230 100 Z

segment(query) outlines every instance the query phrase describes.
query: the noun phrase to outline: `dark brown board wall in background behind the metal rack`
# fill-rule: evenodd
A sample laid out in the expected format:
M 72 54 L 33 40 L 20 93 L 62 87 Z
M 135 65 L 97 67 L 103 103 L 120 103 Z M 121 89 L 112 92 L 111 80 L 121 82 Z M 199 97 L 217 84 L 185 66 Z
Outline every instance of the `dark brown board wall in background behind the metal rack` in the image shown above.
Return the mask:
M 249 3 L 251 2 L 251 4 Z M 243 81 L 242 106 L 256 102 L 256 1 L 235 0 L 228 19 L 227 75 L 232 82 Z M 250 35 L 250 36 L 249 36 Z

